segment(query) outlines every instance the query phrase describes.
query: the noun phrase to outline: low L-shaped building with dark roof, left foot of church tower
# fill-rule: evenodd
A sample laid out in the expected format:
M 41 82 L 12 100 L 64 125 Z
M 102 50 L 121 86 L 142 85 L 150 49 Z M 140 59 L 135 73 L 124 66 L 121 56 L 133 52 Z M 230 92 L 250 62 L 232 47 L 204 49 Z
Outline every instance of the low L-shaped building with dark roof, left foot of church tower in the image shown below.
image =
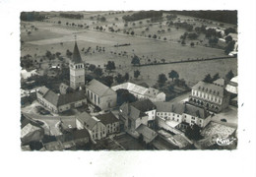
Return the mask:
M 39 103 L 54 113 L 63 112 L 73 107 L 80 107 L 83 103 L 87 103 L 84 90 L 57 94 L 46 87 L 42 87 L 36 91 L 36 96 Z

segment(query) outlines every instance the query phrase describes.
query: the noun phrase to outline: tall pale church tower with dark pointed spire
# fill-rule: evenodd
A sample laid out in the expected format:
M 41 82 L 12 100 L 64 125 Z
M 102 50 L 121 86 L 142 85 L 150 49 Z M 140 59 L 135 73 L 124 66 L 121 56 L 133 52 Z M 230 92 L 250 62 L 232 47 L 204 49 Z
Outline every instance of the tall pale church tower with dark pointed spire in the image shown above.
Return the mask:
M 75 47 L 72 55 L 72 59 L 69 63 L 70 69 L 70 87 L 72 89 L 78 89 L 85 86 L 85 64 L 82 61 L 77 41 L 75 41 Z

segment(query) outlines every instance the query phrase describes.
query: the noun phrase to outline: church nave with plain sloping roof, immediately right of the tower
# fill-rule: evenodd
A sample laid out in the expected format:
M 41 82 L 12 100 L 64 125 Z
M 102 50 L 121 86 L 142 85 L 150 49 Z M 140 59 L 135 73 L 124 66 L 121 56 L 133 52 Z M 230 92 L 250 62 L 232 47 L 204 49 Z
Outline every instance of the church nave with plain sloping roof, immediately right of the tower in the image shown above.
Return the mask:
M 116 106 L 116 92 L 95 79 L 86 86 L 86 94 L 88 100 L 102 110 Z

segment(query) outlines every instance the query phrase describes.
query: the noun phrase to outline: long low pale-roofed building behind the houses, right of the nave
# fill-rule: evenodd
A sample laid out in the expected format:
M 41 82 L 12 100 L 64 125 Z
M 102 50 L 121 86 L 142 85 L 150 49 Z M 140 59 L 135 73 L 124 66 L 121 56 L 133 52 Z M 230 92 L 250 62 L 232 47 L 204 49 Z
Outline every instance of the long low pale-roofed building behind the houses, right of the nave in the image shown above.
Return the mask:
M 159 89 L 146 88 L 143 86 L 135 85 L 133 83 L 124 83 L 112 87 L 111 89 L 127 89 L 130 93 L 139 99 L 150 99 L 151 101 L 165 101 L 165 93 Z

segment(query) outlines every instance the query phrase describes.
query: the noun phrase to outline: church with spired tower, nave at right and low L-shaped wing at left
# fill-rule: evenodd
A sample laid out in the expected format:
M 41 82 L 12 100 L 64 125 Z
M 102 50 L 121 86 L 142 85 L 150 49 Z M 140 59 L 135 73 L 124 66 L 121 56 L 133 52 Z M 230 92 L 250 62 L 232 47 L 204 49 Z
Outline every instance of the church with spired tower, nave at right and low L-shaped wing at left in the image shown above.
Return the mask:
M 69 62 L 70 86 L 60 85 L 60 93 L 42 87 L 36 92 L 37 100 L 54 113 L 82 106 L 88 101 L 101 110 L 116 106 L 117 94 L 95 79 L 86 85 L 86 68 L 77 41 Z M 86 88 L 86 89 L 85 89 Z M 68 89 L 71 91 L 68 91 Z

